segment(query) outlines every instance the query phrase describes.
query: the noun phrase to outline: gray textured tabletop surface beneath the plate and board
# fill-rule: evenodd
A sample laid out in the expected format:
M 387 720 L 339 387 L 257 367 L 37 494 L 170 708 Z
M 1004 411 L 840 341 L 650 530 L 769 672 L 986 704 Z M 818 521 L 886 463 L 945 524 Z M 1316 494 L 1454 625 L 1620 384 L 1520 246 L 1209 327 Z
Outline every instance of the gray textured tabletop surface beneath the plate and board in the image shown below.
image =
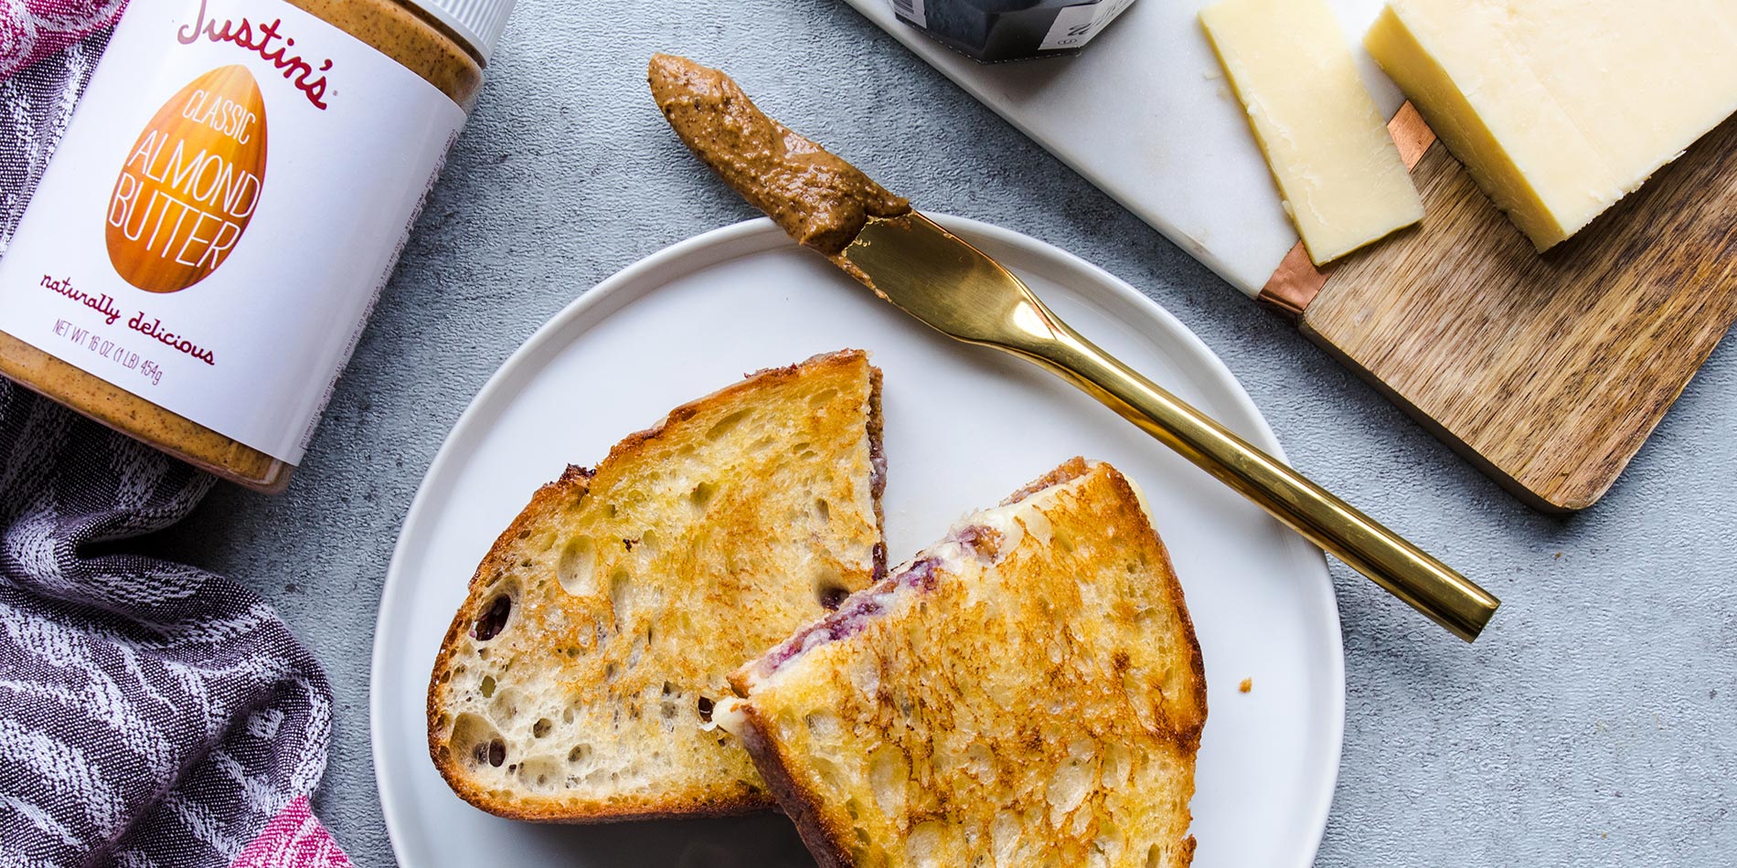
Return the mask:
M 222 488 L 160 540 L 262 592 L 325 661 L 337 727 L 316 809 L 358 865 L 393 865 L 368 654 L 400 521 L 446 429 L 575 295 L 752 215 L 646 97 L 660 49 L 735 71 L 926 208 L 1141 288 L 1225 358 L 1298 467 L 1506 601 L 1463 646 L 1334 564 L 1350 696 L 1320 865 L 1737 859 L 1734 347 L 1602 503 L 1541 516 L 844 3 L 521 0 L 288 493 Z

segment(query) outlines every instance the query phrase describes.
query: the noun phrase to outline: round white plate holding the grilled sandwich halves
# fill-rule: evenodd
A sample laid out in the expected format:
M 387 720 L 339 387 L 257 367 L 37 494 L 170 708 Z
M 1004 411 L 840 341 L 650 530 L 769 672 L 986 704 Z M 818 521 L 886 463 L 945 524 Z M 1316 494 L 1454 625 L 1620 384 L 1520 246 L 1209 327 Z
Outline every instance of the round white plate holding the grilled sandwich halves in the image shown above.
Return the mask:
M 1145 295 L 1027 236 L 940 222 L 1016 271 L 1094 342 L 1278 453 L 1225 365 Z M 886 373 L 895 561 L 1072 455 L 1108 460 L 1145 488 L 1205 658 L 1195 865 L 1310 865 L 1344 729 L 1339 615 L 1320 552 L 1086 394 L 922 328 L 769 220 L 683 241 L 570 304 L 488 380 L 436 455 L 393 554 L 373 644 L 373 762 L 398 861 L 813 865 L 776 814 L 613 826 L 488 816 L 452 795 L 429 762 L 424 700 L 471 571 L 538 484 L 742 373 L 839 347 L 868 349 Z M 1254 679 L 1247 694 L 1237 689 L 1242 679 Z

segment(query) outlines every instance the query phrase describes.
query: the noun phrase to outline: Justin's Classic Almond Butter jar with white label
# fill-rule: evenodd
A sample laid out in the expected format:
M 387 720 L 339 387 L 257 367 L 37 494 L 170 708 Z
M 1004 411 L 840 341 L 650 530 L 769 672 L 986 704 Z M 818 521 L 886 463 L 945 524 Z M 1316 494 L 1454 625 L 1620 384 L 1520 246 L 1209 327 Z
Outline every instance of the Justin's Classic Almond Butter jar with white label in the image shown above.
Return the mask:
M 132 0 L 0 259 L 0 373 L 281 491 L 511 9 Z

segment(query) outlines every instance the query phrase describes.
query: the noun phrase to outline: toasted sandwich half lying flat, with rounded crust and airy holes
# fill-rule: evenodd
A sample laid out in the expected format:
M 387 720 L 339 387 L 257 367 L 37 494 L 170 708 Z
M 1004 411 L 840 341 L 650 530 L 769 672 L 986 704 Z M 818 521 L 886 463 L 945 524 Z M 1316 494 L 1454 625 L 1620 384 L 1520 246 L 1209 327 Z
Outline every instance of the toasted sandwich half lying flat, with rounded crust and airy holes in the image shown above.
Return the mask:
M 705 722 L 731 668 L 884 575 L 882 481 L 881 372 L 860 351 L 754 373 L 568 467 L 446 632 L 434 766 L 518 819 L 771 807 Z

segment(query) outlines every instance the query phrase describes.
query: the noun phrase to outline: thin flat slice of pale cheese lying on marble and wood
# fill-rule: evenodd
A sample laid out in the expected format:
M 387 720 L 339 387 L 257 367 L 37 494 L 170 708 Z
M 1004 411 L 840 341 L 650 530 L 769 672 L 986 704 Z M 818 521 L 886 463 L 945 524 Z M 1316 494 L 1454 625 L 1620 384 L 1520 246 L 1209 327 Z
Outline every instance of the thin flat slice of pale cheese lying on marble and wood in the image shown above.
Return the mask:
M 1225 0 L 1200 24 L 1317 266 L 1423 219 L 1324 0 Z

